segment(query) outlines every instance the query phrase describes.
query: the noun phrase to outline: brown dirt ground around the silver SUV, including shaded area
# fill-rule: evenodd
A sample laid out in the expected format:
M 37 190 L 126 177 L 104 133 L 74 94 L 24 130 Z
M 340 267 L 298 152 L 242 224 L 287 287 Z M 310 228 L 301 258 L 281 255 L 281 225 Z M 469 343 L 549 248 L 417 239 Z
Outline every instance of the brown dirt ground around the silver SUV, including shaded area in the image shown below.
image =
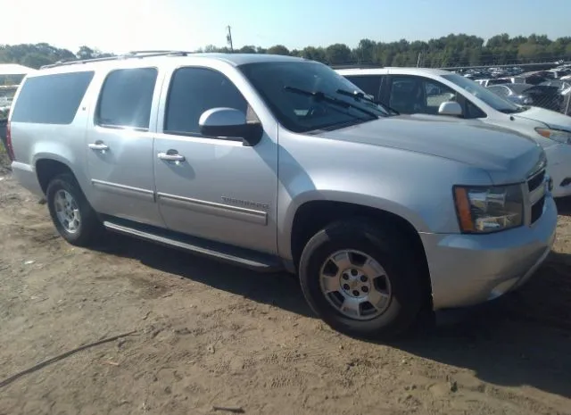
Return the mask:
M 571 203 L 559 210 L 555 252 L 520 292 L 375 344 L 327 328 L 289 276 L 126 237 L 74 248 L 3 168 L 0 414 L 571 414 Z

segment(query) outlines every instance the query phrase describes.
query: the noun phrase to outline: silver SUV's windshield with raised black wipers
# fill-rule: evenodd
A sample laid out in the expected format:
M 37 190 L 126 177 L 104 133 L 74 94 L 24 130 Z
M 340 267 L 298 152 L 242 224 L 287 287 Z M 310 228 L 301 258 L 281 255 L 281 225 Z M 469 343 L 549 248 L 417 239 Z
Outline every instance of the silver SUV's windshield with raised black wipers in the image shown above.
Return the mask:
M 359 87 L 319 62 L 256 62 L 240 70 L 286 129 L 338 129 L 389 113 Z

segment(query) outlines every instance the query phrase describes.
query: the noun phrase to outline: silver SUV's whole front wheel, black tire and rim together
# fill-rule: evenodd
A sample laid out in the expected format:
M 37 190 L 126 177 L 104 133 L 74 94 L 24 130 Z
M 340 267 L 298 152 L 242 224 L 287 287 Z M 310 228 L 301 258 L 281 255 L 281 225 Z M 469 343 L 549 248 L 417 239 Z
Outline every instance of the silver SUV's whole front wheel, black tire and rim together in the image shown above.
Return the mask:
M 384 232 L 367 220 L 331 224 L 311 237 L 303 249 L 299 266 L 303 295 L 311 309 L 336 331 L 376 339 L 401 335 L 417 320 L 426 303 L 423 267 L 415 264 L 412 252 L 410 244 L 398 233 Z M 335 261 L 329 261 L 335 253 L 339 253 Z M 363 264 L 364 260 L 368 260 L 369 266 Z M 353 266 L 343 275 L 342 269 L 348 262 Z M 335 275 L 327 277 L 334 279 L 321 278 L 322 271 Z M 368 283 L 360 286 L 363 280 Z M 339 291 L 326 294 L 323 286 L 338 287 Z M 360 303 L 363 295 L 371 301 Z M 360 305 L 349 307 L 355 303 Z M 373 303 L 377 305 L 371 307 Z

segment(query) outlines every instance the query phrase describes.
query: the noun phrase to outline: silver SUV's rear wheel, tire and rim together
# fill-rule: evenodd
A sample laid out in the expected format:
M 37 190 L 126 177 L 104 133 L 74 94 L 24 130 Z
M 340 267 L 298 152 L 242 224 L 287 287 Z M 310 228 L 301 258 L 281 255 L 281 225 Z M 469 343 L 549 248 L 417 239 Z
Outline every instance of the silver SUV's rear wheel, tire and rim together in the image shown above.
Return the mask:
M 62 221 L 62 195 L 69 195 L 67 202 L 70 203 L 70 210 L 74 211 L 74 226 L 66 226 Z M 46 190 L 47 207 L 50 216 L 54 221 L 54 226 L 59 234 L 71 245 L 89 246 L 101 236 L 102 225 L 97 214 L 87 202 L 86 196 L 81 191 L 76 178 L 70 173 L 63 173 L 53 178 Z M 70 211 L 68 211 L 70 212 Z M 69 217 L 68 217 L 69 218 Z

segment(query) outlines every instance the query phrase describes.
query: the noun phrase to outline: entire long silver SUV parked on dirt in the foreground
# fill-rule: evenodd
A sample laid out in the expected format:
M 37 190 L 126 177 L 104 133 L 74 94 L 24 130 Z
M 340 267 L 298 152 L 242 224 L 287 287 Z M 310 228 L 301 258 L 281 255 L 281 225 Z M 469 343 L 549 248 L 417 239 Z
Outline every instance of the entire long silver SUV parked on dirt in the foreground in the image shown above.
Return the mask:
M 514 132 L 399 116 L 318 62 L 130 54 L 29 75 L 8 148 L 74 245 L 108 229 L 297 273 L 356 336 L 502 295 L 550 252 L 542 147 Z

